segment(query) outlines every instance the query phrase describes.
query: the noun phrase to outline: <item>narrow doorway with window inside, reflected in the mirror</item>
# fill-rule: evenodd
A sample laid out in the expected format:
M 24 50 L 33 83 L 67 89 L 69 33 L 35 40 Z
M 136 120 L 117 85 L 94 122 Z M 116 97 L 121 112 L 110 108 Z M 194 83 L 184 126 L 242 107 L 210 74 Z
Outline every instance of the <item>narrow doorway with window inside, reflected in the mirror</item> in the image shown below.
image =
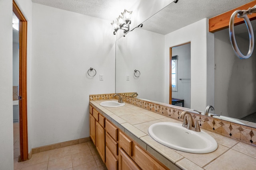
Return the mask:
M 170 47 L 169 104 L 190 108 L 190 42 Z

